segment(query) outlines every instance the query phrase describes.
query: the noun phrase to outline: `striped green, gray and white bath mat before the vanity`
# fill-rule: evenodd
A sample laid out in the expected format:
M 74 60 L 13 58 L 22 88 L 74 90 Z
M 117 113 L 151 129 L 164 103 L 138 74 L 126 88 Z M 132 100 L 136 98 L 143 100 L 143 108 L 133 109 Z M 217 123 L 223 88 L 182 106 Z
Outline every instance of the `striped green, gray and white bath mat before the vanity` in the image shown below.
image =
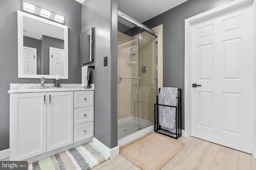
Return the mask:
M 90 170 L 106 161 L 109 156 L 94 143 L 66 150 L 48 158 L 28 164 L 29 170 Z

